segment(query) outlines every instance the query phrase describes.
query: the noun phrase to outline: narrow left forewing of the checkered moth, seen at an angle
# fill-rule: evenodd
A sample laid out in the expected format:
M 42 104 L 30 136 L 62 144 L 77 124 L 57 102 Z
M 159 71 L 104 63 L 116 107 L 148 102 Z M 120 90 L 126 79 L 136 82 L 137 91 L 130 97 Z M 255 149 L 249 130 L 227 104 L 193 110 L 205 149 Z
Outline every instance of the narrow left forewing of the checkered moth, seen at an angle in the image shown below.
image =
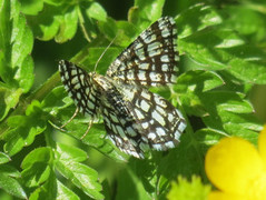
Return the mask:
M 59 62 L 59 71 L 62 84 L 79 111 L 93 117 L 99 109 L 99 101 L 92 78 L 83 69 L 66 60 Z

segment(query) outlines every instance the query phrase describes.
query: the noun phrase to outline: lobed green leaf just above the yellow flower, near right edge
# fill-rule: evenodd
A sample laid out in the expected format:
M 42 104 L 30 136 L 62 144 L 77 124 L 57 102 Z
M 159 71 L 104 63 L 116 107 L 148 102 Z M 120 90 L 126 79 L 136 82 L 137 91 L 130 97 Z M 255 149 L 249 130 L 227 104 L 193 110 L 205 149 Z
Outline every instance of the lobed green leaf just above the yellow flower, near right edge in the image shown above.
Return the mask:
M 230 136 L 238 136 L 249 141 L 257 141 L 257 131 L 262 124 L 252 116 L 252 104 L 242 94 L 233 91 L 211 91 L 201 97 L 208 116 L 204 122 L 214 129 L 225 130 Z

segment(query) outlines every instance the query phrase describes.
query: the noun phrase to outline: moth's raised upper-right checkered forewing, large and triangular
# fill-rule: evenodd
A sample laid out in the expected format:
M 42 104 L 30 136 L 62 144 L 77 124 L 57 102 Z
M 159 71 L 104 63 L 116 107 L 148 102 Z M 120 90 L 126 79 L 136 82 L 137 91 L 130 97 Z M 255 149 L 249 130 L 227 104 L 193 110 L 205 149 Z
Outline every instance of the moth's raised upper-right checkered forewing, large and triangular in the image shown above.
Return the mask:
M 142 86 L 176 82 L 177 30 L 173 18 L 164 17 L 145 30 L 111 63 L 107 76 Z

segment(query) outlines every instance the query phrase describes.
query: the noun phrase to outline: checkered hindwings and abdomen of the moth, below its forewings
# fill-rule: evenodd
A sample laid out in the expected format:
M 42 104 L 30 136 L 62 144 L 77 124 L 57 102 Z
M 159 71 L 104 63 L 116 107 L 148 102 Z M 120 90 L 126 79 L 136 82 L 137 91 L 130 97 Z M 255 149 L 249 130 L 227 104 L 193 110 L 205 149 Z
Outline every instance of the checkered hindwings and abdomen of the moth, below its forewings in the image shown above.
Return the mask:
M 121 151 L 144 158 L 148 149 L 178 144 L 186 122 L 171 103 L 139 86 L 105 82 L 109 87 L 101 96 L 101 113 L 108 137 Z

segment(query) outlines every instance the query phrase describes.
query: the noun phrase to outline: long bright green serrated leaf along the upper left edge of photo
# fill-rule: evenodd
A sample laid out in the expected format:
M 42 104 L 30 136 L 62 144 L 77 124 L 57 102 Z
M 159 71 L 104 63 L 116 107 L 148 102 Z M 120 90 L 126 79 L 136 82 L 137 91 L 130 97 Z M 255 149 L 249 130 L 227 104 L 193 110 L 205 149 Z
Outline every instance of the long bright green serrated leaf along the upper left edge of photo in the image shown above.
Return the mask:
M 21 88 L 26 93 L 33 83 L 33 62 L 29 56 L 33 46 L 32 32 L 19 13 L 18 1 L 1 1 L 0 4 L 0 77 L 6 84 Z

